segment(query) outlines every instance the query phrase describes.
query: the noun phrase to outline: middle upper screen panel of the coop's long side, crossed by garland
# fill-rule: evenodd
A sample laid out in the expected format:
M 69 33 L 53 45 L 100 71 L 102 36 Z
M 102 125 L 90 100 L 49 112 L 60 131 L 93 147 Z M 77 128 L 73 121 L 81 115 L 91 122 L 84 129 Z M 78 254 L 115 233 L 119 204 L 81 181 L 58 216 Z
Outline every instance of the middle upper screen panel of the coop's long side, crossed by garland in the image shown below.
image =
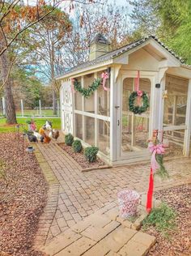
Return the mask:
M 84 87 L 88 88 L 94 81 L 94 74 L 84 75 Z M 85 98 L 85 111 L 90 113 L 95 113 L 95 94 L 93 93 L 88 98 Z

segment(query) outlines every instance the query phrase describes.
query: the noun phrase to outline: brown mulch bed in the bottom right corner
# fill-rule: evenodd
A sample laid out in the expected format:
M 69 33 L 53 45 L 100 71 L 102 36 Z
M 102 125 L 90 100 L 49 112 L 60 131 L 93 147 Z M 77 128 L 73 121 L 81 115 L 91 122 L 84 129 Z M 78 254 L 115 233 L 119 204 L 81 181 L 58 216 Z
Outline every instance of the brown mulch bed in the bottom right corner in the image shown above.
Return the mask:
M 191 255 L 191 186 L 178 186 L 155 193 L 176 213 L 176 230 L 170 232 L 169 239 L 165 239 L 155 228 L 150 228 L 146 233 L 156 237 L 157 243 L 151 248 L 148 255 L 189 256 Z

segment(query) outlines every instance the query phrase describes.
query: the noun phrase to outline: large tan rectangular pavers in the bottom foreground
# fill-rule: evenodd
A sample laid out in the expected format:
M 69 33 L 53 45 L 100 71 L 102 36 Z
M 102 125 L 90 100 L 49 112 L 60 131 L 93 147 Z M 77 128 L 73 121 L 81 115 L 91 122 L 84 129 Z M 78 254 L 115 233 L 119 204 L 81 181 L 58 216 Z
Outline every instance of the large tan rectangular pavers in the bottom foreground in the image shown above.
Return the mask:
M 128 224 L 126 224 L 126 222 Z M 129 226 L 110 203 L 41 247 L 50 256 L 143 256 L 155 237 Z

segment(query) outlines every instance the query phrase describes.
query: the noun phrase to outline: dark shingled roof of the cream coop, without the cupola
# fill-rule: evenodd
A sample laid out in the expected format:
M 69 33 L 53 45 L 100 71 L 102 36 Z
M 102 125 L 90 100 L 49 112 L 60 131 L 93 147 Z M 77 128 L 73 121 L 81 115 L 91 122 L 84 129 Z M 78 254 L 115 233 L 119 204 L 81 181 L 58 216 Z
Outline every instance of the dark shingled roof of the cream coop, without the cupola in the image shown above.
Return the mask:
M 125 45 L 125 46 L 121 47 L 120 49 L 116 49 L 112 52 L 105 53 L 104 55 L 102 55 L 102 56 L 100 56 L 100 57 L 98 57 L 98 58 L 96 58 L 92 61 L 84 62 L 84 63 L 82 63 L 78 66 L 74 66 L 70 70 L 66 71 L 63 75 L 67 75 L 67 74 L 70 74 L 71 72 L 74 72 L 76 70 L 81 70 L 81 69 L 84 69 L 88 66 L 93 66 L 93 65 L 96 65 L 96 64 L 101 63 L 101 62 L 106 62 L 106 61 L 108 61 L 112 58 L 116 58 L 117 56 L 121 55 L 122 53 L 128 52 L 130 49 L 134 49 L 138 45 L 142 45 L 142 43 L 148 41 L 151 38 L 153 38 L 156 42 L 159 43 L 159 45 L 163 46 L 164 49 L 168 50 L 169 53 L 171 53 L 176 59 L 178 59 L 180 62 L 183 63 L 182 59 L 180 57 L 178 57 L 176 55 L 176 53 L 174 53 L 171 49 L 168 49 L 167 46 L 163 45 L 163 43 L 160 42 L 155 36 L 147 36 L 147 37 L 142 38 L 141 40 L 135 41 L 135 42 L 133 42 L 129 45 Z M 63 75 L 60 75 L 57 78 L 60 78 Z

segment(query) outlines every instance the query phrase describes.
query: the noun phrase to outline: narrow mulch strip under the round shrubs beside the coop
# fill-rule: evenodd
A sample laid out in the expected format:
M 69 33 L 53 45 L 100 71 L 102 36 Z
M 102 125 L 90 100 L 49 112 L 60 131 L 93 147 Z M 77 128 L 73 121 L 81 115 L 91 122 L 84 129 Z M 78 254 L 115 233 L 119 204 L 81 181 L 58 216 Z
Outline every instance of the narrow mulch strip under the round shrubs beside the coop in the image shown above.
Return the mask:
M 85 156 L 83 155 L 83 151 L 80 153 L 75 153 L 73 148 L 71 146 L 67 146 L 66 144 L 60 144 L 60 147 L 62 147 L 63 150 L 65 150 L 74 160 L 83 168 L 91 168 L 91 167 L 99 167 L 104 165 L 104 161 L 100 160 L 99 157 L 97 157 L 96 162 L 94 163 L 89 163 L 86 159 Z

